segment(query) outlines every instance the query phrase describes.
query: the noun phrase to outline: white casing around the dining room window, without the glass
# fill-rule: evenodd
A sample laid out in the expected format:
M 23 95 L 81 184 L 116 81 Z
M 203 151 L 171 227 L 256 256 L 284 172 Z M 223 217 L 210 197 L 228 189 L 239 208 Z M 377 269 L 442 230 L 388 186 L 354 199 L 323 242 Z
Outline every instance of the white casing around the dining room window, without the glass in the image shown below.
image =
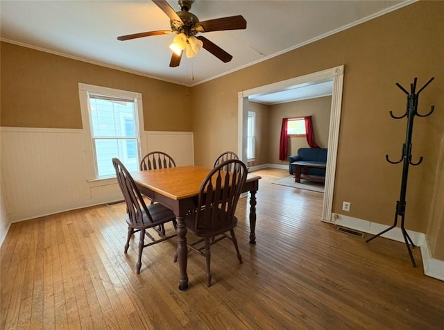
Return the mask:
M 94 155 L 94 145 L 91 134 L 91 116 L 89 109 L 88 93 L 102 94 L 107 96 L 130 98 L 135 100 L 135 107 L 137 112 L 136 128 L 138 130 L 137 152 L 139 159 L 146 153 L 146 139 L 144 134 L 144 107 L 142 105 L 142 93 L 129 92 L 121 89 L 114 89 L 108 87 L 101 87 L 96 85 L 87 85 L 78 83 L 78 94 L 80 99 L 80 111 L 82 114 L 83 124 L 83 151 L 84 151 L 84 167 L 85 177 L 88 182 L 109 180 L 110 177 L 99 178 L 96 156 Z M 115 178 L 113 179 L 115 180 Z

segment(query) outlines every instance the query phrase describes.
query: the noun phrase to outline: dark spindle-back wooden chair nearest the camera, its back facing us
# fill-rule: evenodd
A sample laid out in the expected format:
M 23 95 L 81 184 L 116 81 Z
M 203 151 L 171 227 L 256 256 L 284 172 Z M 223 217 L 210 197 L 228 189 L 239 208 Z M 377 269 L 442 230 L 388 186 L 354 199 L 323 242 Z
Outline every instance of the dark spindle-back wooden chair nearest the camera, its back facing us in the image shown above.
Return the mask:
M 228 168 L 228 171 L 225 171 L 225 168 Z M 234 244 L 239 263 L 242 263 L 234 234 L 234 227 L 237 226 L 234 211 L 246 177 L 247 168 L 239 159 L 229 159 L 213 168 L 200 185 L 195 211 L 185 218 L 187 229 L 200 237 L 198 241 L 188 246 L 207 260 L 207 286 L 211 286 L 210 246 L 214 243 L 229 238 Z M 205 245 L 198 247 L 202 242 L 205 242 Z M 177 258 L 176 252 L 175 262 Z

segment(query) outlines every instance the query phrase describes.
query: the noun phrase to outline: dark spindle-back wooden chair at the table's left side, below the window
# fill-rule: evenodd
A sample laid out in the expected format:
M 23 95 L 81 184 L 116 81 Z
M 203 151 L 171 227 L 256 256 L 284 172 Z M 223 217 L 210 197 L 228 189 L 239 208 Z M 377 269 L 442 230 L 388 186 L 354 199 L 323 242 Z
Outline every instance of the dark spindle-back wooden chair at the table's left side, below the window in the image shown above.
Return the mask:
M 123 166 L 121 161 L 117 158 L 112 159 L 112 165 L 116 170 L 117 182 L 119 182 L 120 189 L 123 193 L 123 197 L 126 202 L 126 223 L 128 223 L 128 239 L 125 244 L 125 253 L 128 252 L 130 246 L 130 238 L 135 232 L 139 234 L 139 257 L 137 259 L 137 274 L 140 273 L 142 266 L 142 250 L 147 246 L 166 241 L 169 238 L 176 236 L 176 234 L 166 236 L 164 233 L 156 229 L 157 226 L 163 226 L 170 221 L 173 223 L 174 229 L 176 229 L 176 216 L 173 211 L 167 209 L 160 204 L 146 206 L 142 194 L 135 185 L 133 177 L 131 177 L 128 170 Z M 161 236 L 159 239 L 155 239 L 148 233 L 147 229 L 153 229 L 157 234 Z M 151 242 L 144 243 L 145 236 L 151 238 Z

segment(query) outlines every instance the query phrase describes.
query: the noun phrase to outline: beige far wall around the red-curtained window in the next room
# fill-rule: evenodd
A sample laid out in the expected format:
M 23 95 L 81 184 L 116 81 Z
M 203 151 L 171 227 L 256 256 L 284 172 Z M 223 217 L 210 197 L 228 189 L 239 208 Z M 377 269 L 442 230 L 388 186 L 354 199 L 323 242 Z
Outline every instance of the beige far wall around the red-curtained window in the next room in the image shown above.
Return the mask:
M 268 155 L 270 157 L 268 162 L 271 164 L 288 165 L 288 162 L 279 160 L 280 130 L 283 118 L 312 116 L 314 141 L 321 148 L 327 148 L 331 107 L 332 96 L 271 106 L 268 134 Z M 309 148 L 307 139 L 305 137 L 290 138 L 288 155 L 298 155 L 299 148 Z

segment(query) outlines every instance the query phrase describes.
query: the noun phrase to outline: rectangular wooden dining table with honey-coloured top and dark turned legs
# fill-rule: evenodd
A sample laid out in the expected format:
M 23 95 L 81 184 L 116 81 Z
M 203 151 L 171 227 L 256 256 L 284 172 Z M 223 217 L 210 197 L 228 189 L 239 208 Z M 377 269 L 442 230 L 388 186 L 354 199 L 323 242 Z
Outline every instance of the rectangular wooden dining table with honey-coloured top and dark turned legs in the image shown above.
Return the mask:
M 139 191 L 148 198 L 168 207 L 176 215 L 178 235 L 179 290 L 189 288 L 187 275 L 187 227 L 185 216 L 197 205 L 200 184 L 211 168 L 178 166 L 150 171 L 132 171 L 131 175 Z M 256 244 L 256 192 L 260 176 L 247 175 L 242 193 L 250 192 L 250 244 Z

